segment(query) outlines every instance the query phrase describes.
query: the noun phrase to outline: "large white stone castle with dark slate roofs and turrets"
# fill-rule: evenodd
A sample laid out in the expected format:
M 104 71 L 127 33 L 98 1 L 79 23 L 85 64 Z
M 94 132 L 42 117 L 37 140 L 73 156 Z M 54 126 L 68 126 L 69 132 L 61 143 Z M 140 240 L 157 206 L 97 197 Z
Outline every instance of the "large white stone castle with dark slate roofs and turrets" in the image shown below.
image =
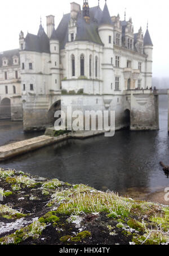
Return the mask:
M 58 109 L 115 110 L 116 129 L 158 129 L 152 92 L 153 43 L 147 28 L 100 6 L 71 3 L 55 29 L 47 16 L 38 34 L 19 35 L 19 49 L 0 54 L 0 118 L 23 120 L 24 130 L 54 125 Z M 9 110 L 8 106 L 10 104 Z

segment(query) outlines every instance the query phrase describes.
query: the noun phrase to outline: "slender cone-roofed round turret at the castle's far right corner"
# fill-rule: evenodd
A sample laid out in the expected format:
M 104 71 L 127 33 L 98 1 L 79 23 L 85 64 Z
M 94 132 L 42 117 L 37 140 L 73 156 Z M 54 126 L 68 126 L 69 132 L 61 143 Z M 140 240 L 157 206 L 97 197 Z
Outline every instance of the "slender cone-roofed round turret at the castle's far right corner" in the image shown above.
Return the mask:
M 146 87 L 152 87 L 152 65 L 153 65 L 153 43 L 149 34 L 148 27 L 144 36 L 144 53 L 146 58 Z

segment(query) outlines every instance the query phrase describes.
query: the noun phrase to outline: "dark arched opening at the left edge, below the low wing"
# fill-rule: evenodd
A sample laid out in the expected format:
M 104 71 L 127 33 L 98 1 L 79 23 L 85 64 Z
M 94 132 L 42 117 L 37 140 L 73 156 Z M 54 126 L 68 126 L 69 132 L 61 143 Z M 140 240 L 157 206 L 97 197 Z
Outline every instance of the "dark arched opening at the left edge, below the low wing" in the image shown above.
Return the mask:
M 0 119 L 11 119 L 11 100 L 9 98 L 1 100 Z

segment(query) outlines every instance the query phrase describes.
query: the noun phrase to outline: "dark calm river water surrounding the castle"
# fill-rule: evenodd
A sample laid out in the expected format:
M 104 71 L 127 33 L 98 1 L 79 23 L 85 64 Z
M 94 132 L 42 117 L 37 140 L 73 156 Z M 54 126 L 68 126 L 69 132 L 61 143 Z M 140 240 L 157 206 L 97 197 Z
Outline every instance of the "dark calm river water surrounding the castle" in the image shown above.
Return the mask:
M 86 140 L 69 140 L 1 162 L 25 173 L 58 178 L 73 184 L 118 192 L 132 198 L 164 202 L 169 179 L 159 162 L 169 165 L 167 98 L 159 107 L 159 131 L 117 131 L 112 138 L 103 135 Z M 25 135 L 21 123 L 0 122 L 0 142 L 36 136 Z M 159 198 L 160 197 L 160 198 Z

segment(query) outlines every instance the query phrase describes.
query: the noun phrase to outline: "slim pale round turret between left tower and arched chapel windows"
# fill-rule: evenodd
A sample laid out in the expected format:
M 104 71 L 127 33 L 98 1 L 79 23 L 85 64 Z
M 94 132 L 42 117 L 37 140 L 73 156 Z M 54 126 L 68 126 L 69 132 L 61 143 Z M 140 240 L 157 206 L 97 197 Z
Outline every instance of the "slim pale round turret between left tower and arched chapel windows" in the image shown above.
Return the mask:
M 51 74 L 52 83 L 50 86 L 51 91 L 60 90 L 60 49 L 59 39 L 57 38 L 55 28 L 52 31 L 50 38 L 50 52 L 51 52 Z

